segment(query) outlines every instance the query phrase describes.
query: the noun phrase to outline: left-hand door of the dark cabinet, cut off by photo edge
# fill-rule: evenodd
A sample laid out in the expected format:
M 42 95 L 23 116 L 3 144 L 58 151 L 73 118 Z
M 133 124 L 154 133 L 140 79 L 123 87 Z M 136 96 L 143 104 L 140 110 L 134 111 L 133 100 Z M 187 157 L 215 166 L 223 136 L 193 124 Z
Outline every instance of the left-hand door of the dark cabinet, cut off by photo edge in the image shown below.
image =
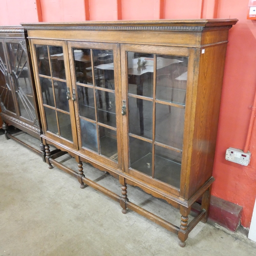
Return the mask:
M 7 62 L 7 51 L 4 39 L 0 39 L 0 97 L 2 111 L 16 117 L 14 92 L 12 88 L 11 74 Z

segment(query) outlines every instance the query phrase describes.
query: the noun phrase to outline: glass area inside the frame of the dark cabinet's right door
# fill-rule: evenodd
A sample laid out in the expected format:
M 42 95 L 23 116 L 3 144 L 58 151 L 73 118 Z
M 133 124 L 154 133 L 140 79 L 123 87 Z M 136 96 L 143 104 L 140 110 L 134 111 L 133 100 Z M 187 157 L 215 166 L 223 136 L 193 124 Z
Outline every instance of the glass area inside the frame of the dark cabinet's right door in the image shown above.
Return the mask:
M 7 44 L 20 116 L 34 121 L 35 109 L 29 79 L 27 54 L 20 44 Z

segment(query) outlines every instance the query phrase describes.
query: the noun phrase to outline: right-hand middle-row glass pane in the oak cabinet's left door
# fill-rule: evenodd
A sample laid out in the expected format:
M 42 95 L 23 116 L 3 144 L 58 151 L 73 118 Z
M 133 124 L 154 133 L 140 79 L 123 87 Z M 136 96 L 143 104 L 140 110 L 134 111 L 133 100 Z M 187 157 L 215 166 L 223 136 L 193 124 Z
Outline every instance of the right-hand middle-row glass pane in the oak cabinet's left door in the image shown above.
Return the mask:
M 67 99 L 67 83 L 53 80 L 56 108 L 69 112 L 69 101 Z

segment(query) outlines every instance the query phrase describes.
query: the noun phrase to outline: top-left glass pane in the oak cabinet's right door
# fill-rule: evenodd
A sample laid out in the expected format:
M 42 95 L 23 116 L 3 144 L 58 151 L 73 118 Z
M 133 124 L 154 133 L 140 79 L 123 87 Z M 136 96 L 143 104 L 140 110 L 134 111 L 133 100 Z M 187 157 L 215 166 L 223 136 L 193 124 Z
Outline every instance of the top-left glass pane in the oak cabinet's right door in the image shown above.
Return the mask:
M 127 52 L 128 92 L 153 97 L 154 55 Z

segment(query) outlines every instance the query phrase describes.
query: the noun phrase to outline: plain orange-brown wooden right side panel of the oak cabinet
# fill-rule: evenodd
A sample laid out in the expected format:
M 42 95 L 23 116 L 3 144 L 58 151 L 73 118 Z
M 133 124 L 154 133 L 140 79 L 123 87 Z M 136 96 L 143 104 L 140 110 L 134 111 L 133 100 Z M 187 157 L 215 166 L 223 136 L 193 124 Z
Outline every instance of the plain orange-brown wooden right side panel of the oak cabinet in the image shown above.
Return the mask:
M 200 53 L 197 109 L 191 158 L 190 198 L 212 175 L 214 165 L 226 44 Z

